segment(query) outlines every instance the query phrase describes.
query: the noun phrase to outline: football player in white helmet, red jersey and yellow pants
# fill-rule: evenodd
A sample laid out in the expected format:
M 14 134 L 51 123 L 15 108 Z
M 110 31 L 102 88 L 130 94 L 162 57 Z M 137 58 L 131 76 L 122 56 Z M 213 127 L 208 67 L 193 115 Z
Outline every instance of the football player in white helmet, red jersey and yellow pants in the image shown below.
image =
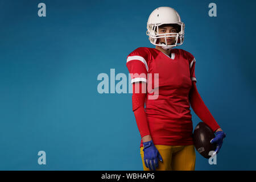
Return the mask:
M 217 143 L 216 154 L 225 138 L 197 91 L 195 57 L 174 48 L 183 44 L 184 26 L 171 7 L 155 9 L 147 22 L 147 35 L 155 48 L 139 47 L 127 56 L 144 170 L 195 170 L 190 105 L 215 132 L 210 142 Z

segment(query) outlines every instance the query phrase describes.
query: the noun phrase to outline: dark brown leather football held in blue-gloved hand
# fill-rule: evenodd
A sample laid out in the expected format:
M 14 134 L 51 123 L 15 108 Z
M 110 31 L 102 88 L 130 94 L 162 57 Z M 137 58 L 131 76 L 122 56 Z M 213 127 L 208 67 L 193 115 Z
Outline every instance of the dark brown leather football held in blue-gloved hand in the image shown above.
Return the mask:
M 210 143 L 210 140 L 214 137 L 214 132 L 207 124 L 200 122 L 196 125 L 193 131 L 193 143 L 197 152 L 204 158 L 209 159 L 211 156 L 209 152 L 216 150 L 216 144 Z

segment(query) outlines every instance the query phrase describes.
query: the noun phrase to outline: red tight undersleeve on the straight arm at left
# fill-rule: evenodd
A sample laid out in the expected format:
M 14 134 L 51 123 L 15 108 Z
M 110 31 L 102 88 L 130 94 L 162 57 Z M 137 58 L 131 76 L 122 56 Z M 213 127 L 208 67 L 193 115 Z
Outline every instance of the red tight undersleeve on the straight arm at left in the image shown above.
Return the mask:
M 139 93 L 135 92 L 135 87 L 137 87 L 135 85 L 139 86 Z M 132 96 L 133 112 L 135 115 L 139 133 L 141 134 L 141 138 L 146 135 L 150 135 L 150 131 L 148 129 L 147 118 L 146 118 L 146 112 L 144 110 L 146 93 L 142 92 L 142 88 L 143 88 L 142 86 L 144 86 L 144 88 L 146 88 L 146 83 L 145 82 L 133 83 L 133 96 Z

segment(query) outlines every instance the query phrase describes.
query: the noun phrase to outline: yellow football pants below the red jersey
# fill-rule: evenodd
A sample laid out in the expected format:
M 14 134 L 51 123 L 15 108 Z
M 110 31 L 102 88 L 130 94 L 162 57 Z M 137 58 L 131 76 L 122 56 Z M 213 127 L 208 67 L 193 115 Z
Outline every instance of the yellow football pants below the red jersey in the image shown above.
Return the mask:
M 191 146 L 164 146 L 155 145 L 163 162 L 158 160 L 156 171 L 194 171 L 196 163 L 196 152 L 193 145 Z M 144 163 L 144 152 L 141 147 L 141 158 L 144 171 L 150 171 Z

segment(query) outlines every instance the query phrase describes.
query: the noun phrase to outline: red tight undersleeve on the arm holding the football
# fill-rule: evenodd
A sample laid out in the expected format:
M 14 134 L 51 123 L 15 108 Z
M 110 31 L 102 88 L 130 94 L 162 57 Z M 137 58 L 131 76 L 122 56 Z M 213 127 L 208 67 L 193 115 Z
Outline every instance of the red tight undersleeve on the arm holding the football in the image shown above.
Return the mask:
M 189 101 L 193 111 L 203 122 L 205 122 L 210 127 L 210 129 L 216 131 L 218 128 L 220 128 L 210 113 L 209 109 L 204 104 L 204 101 L 202 100 L 199 92 L 197 91 L 195 81 L 192 82 L 192 88 L 189 93 Z

